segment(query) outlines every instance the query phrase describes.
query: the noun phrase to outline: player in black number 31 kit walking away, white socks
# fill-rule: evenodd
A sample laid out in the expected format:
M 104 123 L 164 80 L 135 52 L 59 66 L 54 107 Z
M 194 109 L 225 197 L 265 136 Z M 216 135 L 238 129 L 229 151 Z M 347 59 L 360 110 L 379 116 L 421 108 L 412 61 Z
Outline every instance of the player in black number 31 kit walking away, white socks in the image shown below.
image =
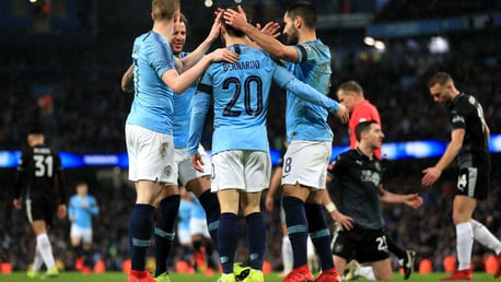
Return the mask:
M 36 236 L 35 259 L 27 275 L 35 278 L 45 263 L 45 277 L 58 277 L 53 247 L 47 236 L 48 227 L 57 211 L 59 219 L 66 216 L 66 195 L 59 154 L 44 144 L 45 137 L 38 129 L 27 134 L 30 149 L 22 153 L 14 181 L 14 208 L 26 212 Z M 23 193 L 23 196 L 22 196 Z

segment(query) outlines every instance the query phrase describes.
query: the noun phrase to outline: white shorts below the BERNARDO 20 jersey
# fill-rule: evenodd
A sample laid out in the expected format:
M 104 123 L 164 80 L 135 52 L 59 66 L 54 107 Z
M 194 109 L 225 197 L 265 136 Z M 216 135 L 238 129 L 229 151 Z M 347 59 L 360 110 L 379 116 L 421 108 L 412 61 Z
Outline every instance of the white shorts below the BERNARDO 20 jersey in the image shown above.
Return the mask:
M 271 160 L 263 151 L 232 150 L 212 156 L 212 191 L 260 192 L 269 187 Z

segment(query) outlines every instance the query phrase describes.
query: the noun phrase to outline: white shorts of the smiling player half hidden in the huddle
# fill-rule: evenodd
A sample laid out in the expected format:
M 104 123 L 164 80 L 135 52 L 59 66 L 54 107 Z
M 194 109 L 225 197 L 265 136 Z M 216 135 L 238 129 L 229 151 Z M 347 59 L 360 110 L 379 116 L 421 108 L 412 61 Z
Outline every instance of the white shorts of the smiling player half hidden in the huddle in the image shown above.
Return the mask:
M 186 184 L 190 180 L 210 175 L 212 167 L 210 165 L 210 158 L 207 155 L 203 146 L 198 148 L 198 153 L 200 154 L 203 161 L 203 173 L 200 173 L 194 168 L 191 162 L 189 161 L 188 149 L 176 149 L 175 150 L 175 165 L 177 167 L 177 174 L 179 175 L 179 181 L 186 187 Z

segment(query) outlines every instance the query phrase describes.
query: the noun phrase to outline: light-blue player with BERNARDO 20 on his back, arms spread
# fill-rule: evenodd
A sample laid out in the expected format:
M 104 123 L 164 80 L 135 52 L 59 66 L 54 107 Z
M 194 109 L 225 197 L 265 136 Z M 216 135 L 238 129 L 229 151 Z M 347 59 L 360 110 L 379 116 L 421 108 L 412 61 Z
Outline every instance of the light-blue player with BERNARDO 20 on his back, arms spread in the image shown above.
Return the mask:
M 271 173 L 266 127 L 271 82 L 333 113 L 342 106 L 300 82 L 264 50 L 245 45 L 247 40 L 242 32 L 222 23 L 221 34 L 228 48 L 240 54 L 240 60 L 212 63 L 200 80 L 191 115 L 188 153 L 194 167 L 202 172 L 198 145 L 212 97 L 212 190 L 218 191 L 221 205 L 218 250 L 223 274 L 220 281 L 235 279 L 233 262 L 240 205 L 247 224 L 252 267 L 248 279 L 263 281 L 266 234 L 260 196 L 269 186 Z

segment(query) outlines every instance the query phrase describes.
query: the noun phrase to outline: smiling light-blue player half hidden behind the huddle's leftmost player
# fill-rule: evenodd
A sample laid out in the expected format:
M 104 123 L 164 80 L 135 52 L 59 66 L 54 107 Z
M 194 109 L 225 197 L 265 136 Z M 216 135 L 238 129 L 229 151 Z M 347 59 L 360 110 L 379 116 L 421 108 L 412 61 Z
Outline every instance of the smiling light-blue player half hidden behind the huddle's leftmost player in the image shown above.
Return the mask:
M 219 35 L 219 17 L 212 25 L 212 28 L 206 38 L 193 52 L 183 52 L 183 48 L 186 42 L 186 23 L 187 19 L 180 14 L 180 20 L 174 25 L 174 32 L 170 39 L 170 46 L 174 54 L 175 59 L 178 62 L 182 62 L 183 66 L 187 66 L 191 60 L 198 60 L 201 56 L 207 52 L 210 45 L 218 38 Z M 176 67 L 177 68 L 177 67 Z M 133 66 L 131 66 L 123 78 L 123 90 L 125 92 L 132 92 L 133 81 Z M 180 70 L 182 71 L 182 70 Z M 175 146 L 175 156 L 174 156 L 174 167 L 173 171 L 177 172 L 178 180 L 187 189 L 191 190 L 198 199 L 200 199 L 201 204 L 207 211 L 207 225 L 210 226 L 210 234 L 213 238 L 213 242 L 217 243 L 217 231 L 218 231 L 218 221 L 219 221 L 219 202 L 215 193 L 210 191 L 210 160 L 207 156 L 203 148 L 200 145 L 200 154 L 205 157 L 207 163 L 207 172 L 199 173 L 194 169 L 189 161 L 189 155 L 187 153 L 187 139 L 189 130 L 189 117 L 191 114 L 191 104 L 194 92 L 196 91 L 197 83 L 194 83 L 189 86 L 182 95 L 174 95 L 173 97 L 173 107 L 175 108 L 173 113 L 173 139 Z M 168 189 L 164 189 L 159 197 L 161 207 L 175 207 L 177 204 L 178 196 L 176 193 L 177 187 L 171 185 Z M 162 214 L 168 212 L 170 208 L 161 209 Z M 165 224 L 162 227 L 163 231 L 172 231 L 167 234 L 173 234 L 174 232 L 174 218 L 168 216 L 168 222 L 158 221 L 158 223 Z M 156 226 L 159 227 L 159 226 Z M 155 233 L 156 246 L 156 267 L 155 277 L 161 275 L 166 271 L 165 261 L 168 262 L 168 256 L 172 252 L 172 240 L 173 236 L 164 236 L 163 233 Z

